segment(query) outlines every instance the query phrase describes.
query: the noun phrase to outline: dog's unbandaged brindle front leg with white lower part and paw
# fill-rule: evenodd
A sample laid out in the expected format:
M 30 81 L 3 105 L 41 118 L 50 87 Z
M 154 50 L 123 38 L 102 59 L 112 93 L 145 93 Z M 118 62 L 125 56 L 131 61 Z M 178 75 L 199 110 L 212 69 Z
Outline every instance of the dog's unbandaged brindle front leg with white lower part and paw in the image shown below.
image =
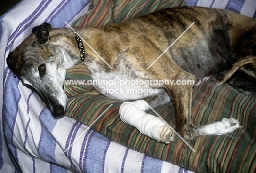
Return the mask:
M 179 73 L 176 80 L 195 80 L 194 75 Z M 222 135 L 233 132 L 239 128 L 239 122 L 234 118 L 223 118 L 222 121 L 207 124 L 205 126 L 194 126 L 191 122 L 191 98 L 192 85 L 165 86 L 172 95 L 176 110 L 176 129 L 186 140 L 194 139 L 201 135 Z

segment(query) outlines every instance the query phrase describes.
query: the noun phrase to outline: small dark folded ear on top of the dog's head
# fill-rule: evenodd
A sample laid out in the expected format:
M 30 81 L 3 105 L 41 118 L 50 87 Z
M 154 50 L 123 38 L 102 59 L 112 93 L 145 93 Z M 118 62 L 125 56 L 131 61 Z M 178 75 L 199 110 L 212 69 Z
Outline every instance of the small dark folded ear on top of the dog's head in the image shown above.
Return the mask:
M 32 29 L 33 38 L 39 44 L 46 44 L 49 40 L 49 31 L 51 31 L 51 25 L 49 23 L 43 23 Z

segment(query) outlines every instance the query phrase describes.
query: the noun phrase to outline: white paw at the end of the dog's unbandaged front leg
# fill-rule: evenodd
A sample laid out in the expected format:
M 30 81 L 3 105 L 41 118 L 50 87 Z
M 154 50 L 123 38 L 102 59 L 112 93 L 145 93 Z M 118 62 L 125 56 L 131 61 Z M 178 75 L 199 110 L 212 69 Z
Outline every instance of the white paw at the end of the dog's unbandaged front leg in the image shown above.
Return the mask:
M 220 134 L 231 133 L 235 129 L 241 128 L 239 121 L 237 121 L 234 118 L 223 118 L 222 121 L 220 122 L 221 122 L 219 127 Z

